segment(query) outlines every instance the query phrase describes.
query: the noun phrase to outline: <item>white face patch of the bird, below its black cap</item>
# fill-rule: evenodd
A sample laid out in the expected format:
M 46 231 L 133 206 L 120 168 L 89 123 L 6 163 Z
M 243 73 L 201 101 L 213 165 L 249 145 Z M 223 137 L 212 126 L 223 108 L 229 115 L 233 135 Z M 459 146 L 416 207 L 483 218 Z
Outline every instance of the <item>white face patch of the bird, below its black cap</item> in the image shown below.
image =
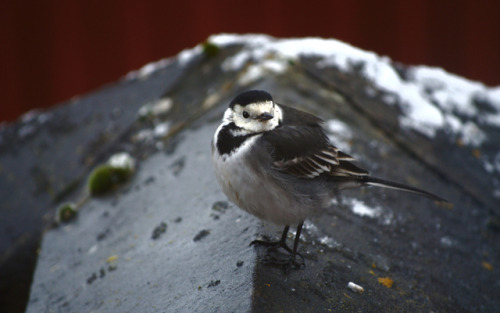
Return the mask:
M 271 119 L 259 119 L 263 114 L 270 114 Z M 272 101 L 256 102 L 246 106 L 236 104 L 224 113 L 224 122 L 234 122 L 240 130 L 233 135 L 242 136 L 252 133 L 261 133 L 276 128 L 283 117 L 279 106 Z

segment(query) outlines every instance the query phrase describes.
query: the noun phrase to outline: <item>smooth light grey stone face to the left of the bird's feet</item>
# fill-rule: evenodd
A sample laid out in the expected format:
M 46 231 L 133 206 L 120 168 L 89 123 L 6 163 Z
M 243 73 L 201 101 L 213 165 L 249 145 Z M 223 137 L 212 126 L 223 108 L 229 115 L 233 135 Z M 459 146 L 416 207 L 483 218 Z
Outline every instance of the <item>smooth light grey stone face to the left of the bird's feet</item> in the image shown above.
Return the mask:
M 255 258 L 241 248 L 257 222 L 214 184 L 207 143 L 215 127 L 184 132 L 124 190 L 90 200 L 75 223 L 48 232 L 27 312 L 248 311 Z

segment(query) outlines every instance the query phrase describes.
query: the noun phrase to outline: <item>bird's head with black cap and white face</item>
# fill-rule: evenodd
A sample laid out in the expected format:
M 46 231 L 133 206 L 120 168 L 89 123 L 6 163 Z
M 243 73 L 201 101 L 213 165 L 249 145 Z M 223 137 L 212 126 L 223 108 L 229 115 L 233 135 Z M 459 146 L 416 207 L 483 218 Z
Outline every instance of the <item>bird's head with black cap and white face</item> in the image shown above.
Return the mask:
M 262 90 L 245 91 L 231 101 L 224 122 L 234 123 L 241 135 L 262 133 L 278 127 L 282 112 L 271 95 Z

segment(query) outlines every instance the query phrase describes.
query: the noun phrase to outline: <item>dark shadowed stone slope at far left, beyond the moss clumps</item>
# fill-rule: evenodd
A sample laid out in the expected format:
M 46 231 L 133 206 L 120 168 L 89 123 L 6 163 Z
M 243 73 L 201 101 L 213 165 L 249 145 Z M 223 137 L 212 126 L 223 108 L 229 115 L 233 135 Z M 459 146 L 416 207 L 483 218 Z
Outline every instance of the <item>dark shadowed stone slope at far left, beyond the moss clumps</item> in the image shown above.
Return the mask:
M 139 108 L 188 69 L 173 62 L 148 80 L 123 80 L 0 127 L 0 308 L 24 311 L 36 250 L 54 208 L 113 149 L 126 149 L 119 145 Z

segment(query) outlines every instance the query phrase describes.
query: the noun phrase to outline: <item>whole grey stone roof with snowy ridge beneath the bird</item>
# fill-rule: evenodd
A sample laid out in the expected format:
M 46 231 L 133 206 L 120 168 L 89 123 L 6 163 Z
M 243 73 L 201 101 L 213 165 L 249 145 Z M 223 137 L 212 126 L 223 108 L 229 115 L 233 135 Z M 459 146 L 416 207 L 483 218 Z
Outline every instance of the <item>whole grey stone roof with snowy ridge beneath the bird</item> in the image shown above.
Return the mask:
M 373 175 L 453 205 L 349 190 L 306 222 L 305 269 L 262 264 L 248 244 L 279 229 L 229 203 L 210 162 L 222 113 L 246 89 L 321 116 Z M 20 224 L 1 265 L 69 201 L 78 214 L 44 233 L 27 312 L 491 312 L 499 116 L 498 88 L 440 69 L 335 40 L 213 36 L 1 131 L 2 211 Z M 135 159 L 133 176 L 91 196 L 89 173 L 117 152 Z

